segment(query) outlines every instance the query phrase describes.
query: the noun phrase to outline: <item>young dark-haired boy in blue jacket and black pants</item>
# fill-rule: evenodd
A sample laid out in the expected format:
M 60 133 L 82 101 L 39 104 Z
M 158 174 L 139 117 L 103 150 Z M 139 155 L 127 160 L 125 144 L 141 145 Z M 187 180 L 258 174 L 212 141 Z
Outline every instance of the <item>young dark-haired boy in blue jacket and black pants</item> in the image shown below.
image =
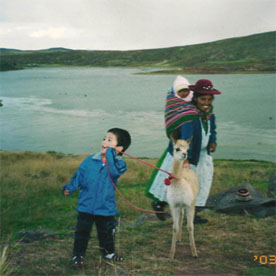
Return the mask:
M 117 183 L 127 170 L 121 153 L 131 143 L 129 133 L 120 128 L 112 128 L 106 133 L 101 152 L 87 157 L 73 175 L 71 182 L 63 187 L 65 196 L 80 188 L 78 201 L 78 221 L 75 232 L 72 264 L 82 267 L 85 251 L 95 222 L 100 251 L 105 259 L 122 261 L 115 254 L 114 233 L 117 213 L 115 190 L 111 183 Z M 108 166 L 108 168 L 107 168 Z M 111 179 L 110 179 L 111 178 Z

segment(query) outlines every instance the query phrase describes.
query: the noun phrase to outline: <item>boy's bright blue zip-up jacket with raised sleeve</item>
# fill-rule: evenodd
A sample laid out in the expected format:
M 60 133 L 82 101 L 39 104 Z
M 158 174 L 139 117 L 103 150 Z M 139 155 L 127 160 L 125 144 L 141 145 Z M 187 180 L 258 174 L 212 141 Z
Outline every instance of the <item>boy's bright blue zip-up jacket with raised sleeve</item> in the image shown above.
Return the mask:
M 114 184 L 127 170 L 125 161 L 113 148 L 106 152 L 107 165 Z M 117 213 L 115 189 L 108 176 L 102 153 L 87 157 L 73 175 L 71 182 L 63 187 L 71 195 L 80 188 L 77 210 L 92 215 L 114 216 Z

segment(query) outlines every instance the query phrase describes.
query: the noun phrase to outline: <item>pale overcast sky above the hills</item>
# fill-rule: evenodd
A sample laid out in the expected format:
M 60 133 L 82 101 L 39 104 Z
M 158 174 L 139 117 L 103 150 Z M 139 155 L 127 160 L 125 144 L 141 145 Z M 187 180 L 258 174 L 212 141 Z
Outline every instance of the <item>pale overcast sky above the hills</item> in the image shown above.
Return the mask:
M 275 30 L 275 0 L 0 0 L 0 48 L 150 49 Z

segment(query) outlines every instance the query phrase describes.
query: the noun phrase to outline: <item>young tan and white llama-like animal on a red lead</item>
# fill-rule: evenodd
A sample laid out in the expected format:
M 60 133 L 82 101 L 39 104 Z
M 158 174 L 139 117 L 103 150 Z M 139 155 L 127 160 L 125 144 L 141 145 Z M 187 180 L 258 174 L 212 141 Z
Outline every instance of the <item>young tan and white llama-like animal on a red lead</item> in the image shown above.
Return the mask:
M 176 241 L 181 241 L 184 210 L 187 218 L 187 229 L 189 232 L 190 247 L 192 256 L 197 257 L 197 250 L 194 240 L 194 215 L 195 200 L 198 194 L 199 184 L 195 172 L 184 168 L 184 161 L 188 156 L 189 142 L 186 140 L 173 140 L 173 167 L 172 175 L 177 179 L 171 181 L 168 186 L 167 200 L 173 219 L 173 236 L 170 251 L 170 258 L 175 255 Z

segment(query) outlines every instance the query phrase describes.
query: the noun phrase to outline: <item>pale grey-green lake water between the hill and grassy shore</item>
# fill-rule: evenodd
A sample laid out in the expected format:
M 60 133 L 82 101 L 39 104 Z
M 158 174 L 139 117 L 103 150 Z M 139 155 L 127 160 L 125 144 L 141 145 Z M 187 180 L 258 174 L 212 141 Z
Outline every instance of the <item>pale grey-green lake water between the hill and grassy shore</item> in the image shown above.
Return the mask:
M 145 69 L 35 68 L 0 73 L 1 149 L 98 152 L 106 130 L 129 130 L 128 153 L 159 157 L 168 139 L 165 97 L 175 75 L 136 75 Z M 276 162 L 275 74 L 185 75 L 209 78 L 216 96 L 214 158 Z

